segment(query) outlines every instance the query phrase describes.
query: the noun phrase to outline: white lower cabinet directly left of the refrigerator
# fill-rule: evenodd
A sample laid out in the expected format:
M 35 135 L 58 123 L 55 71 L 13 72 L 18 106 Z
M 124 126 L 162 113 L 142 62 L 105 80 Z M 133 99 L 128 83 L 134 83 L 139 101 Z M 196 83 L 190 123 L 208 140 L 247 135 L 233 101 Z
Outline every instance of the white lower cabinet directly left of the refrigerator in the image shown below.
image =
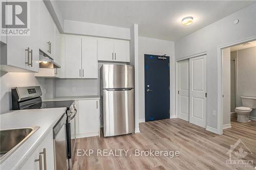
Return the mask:
M 98 135 L 99 100 L 79 100 L 77 138 Z

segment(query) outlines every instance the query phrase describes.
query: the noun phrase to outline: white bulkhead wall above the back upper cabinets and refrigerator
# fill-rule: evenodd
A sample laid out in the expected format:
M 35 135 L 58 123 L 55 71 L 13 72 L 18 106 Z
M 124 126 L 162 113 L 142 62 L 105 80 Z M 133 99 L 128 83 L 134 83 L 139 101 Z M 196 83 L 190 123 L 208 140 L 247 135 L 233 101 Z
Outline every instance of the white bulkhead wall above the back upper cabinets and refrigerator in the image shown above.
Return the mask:
M 130 29 L 97 23 L 64 20 L 64 33 L 130 40 Z

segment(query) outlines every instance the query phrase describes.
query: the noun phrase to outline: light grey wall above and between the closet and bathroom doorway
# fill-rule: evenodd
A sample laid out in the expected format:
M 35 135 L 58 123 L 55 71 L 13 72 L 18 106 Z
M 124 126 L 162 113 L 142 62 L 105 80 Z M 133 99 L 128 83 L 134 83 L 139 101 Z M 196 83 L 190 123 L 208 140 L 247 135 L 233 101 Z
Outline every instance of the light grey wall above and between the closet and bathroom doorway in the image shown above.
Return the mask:
M 206 125 L 211 128 L 217 129 L 217 116 L 213 115 L 213 111 L 218 110 L 217 48 L 218 46 L 256 36 L 255 17 L 256 4 L 253 4 L 175 41 L 175 57 L 177 59 L 207 51 L 208 97 Z M 236 19 L 239 19 L 240 22 L 234 25 L 233 21 Z

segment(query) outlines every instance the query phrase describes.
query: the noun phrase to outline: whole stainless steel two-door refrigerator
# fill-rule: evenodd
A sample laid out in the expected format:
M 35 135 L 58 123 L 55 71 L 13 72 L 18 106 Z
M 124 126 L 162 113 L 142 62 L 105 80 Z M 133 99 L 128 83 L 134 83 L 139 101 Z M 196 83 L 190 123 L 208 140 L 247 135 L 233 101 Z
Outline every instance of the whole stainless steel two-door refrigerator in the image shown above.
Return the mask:
M 100 96 L 104 137 L 134 133 L 134 66 L 103 64 L 100 68 Z

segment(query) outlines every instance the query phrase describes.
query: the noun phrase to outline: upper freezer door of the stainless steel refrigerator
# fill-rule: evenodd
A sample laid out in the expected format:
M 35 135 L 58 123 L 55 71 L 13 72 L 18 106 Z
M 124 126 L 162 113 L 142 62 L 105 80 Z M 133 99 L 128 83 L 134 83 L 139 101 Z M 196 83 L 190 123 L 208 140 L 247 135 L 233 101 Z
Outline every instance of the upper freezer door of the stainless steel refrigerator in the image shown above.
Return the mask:
M 102 88 L 134 88 L 133 65 L 103 64 Z

